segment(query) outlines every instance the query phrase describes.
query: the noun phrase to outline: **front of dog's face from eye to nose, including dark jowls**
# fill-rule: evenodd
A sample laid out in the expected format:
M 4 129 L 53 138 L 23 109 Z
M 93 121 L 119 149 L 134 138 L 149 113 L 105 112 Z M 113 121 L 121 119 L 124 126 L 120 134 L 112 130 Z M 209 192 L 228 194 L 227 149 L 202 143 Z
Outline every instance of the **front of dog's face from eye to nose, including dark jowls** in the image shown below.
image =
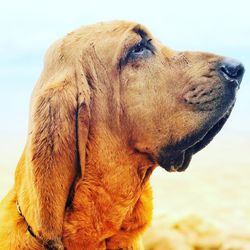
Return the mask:
M 227 120 L 244 73 L 232 59 L 176 52 L 140 28 L 121 63 L 132 140 L 169 171 L 183 171 Z

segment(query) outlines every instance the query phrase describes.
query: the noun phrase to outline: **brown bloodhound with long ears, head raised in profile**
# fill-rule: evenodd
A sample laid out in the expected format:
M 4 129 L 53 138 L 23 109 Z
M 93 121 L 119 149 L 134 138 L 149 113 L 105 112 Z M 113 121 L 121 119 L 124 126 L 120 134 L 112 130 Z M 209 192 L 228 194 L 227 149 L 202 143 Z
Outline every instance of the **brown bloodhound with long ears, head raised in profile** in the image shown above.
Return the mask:
M 187 168 L 228 118 L 243 73 L 234 60 L 166 48 L 134 23 L 57 41 L 1 202 L 0 249 L 139 249 L 153 169 Z

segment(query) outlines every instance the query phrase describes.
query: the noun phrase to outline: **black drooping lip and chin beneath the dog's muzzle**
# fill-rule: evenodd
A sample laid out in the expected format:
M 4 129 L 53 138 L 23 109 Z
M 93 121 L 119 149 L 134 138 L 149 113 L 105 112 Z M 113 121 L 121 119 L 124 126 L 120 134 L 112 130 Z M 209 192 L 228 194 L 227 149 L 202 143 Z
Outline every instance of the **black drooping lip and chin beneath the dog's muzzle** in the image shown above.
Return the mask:
M 174 145 L 164 146 L 158 155 L 158 164 L 169 172 L 181 172 L 187 169 L 193 154 L 206 147 L 221 130 L 232 107 L 217 122 L 204 124 L 199 131 L 188 135 Z

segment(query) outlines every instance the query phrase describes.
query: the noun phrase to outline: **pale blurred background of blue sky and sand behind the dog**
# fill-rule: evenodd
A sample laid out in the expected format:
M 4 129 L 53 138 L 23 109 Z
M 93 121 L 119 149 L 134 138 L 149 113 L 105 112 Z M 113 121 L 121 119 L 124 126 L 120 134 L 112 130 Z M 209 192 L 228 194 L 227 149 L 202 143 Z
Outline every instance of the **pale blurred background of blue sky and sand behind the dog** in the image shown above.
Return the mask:
M 243 62 L 245 77 L 223 130 L 184 173 L 157 169 L 147 249 L 250 249 L 250 2 L 2 1 L 0 9 L 0 198 L 25 145 L 29 98 L 56 39 L 81 25 L 125 19 L 176 50 Z M 177 244 L 177 242 L 179 242 Z

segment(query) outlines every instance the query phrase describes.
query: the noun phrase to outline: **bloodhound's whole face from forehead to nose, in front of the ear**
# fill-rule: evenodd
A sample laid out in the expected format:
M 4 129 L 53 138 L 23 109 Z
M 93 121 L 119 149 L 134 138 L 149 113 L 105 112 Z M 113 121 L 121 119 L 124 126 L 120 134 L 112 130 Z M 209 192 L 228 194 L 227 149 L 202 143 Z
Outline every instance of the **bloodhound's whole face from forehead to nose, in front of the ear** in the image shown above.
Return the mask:
M 94 92 L 92 120 L 105 120 L 124 144 L 166 170 L 185 170 L 228 118 L 243 66 L 213 54 L 171 50 L 141 25 L 98 25 L 83 29 L 76 46 L 76 53 L 84 51 Z

